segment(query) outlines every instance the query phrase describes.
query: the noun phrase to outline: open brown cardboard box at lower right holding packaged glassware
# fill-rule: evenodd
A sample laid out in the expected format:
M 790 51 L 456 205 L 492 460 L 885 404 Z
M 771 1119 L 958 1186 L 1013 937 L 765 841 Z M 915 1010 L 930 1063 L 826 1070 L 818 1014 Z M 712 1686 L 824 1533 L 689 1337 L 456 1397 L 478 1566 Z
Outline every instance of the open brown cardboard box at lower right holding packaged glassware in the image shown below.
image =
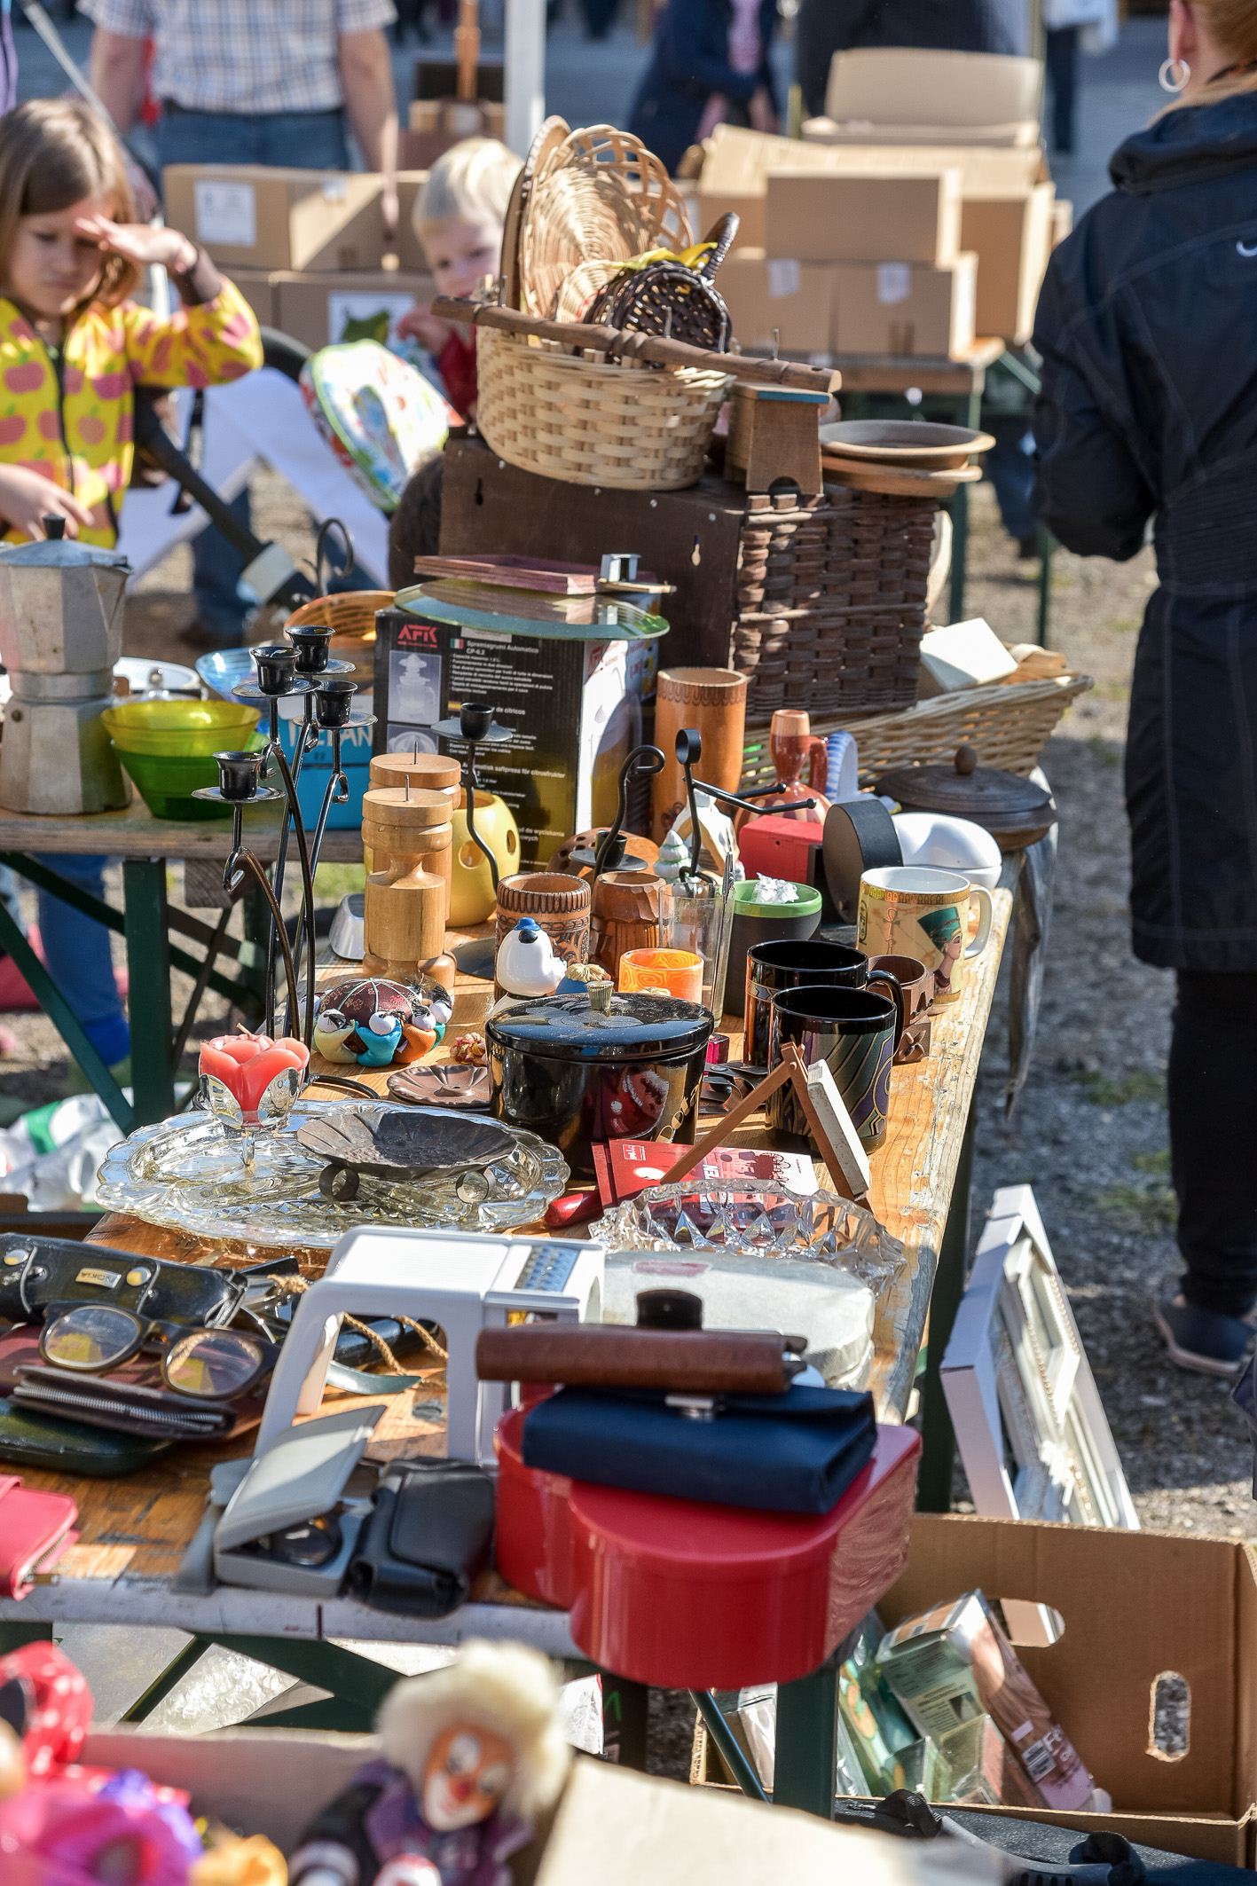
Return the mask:
M 922 1514 L 908 1567 L 878 1605 L 886 1626 L 980 1588 L 1059 1611 L 1050 1646 L 1018 1645 L 1044 1701 L 1114 1812 L 1001 1809 L 1191 1854 L 1257 1860 L 1257 1554 L 1234 1539 Z M 1131 1594 L 1138 1592 L 1138 1605 Z M 1157 1680 L 1189 1690 L 1187 1746 L 1150 1743 Z M 697 1780 L 726 1780 L 695 1737 Z

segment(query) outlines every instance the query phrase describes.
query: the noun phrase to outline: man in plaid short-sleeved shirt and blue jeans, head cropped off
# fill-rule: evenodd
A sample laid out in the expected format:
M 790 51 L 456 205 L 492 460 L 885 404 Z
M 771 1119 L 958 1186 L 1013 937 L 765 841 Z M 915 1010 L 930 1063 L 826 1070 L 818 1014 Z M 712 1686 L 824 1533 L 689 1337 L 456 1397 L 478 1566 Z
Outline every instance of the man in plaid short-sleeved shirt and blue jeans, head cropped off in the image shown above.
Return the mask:
M 166 164 L 279 164 L 349 170 L 352 132 L 384 177 L 384 224 L 398 221 L 398 104 L 384 28 L 392 0 L 81 0 L 94 21 L 90 79 L 121 132 L 151 85 Z M 236 500 L 249 522 L 249 494 Z M 198 634 L 243 641 L 241 558 L 204 530 L 194 543 Z

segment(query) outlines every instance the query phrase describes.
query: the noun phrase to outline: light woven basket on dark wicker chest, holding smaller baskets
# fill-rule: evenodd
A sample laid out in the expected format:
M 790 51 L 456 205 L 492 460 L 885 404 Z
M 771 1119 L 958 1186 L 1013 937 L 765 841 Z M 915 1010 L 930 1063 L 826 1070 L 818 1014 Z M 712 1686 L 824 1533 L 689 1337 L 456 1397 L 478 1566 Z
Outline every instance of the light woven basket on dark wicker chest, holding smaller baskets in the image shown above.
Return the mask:
M 727 373 L 569 355 L 496 328 L 477 332 L 477 426 L 518 466 L 569 485 L 695 485 L 727 398 Z

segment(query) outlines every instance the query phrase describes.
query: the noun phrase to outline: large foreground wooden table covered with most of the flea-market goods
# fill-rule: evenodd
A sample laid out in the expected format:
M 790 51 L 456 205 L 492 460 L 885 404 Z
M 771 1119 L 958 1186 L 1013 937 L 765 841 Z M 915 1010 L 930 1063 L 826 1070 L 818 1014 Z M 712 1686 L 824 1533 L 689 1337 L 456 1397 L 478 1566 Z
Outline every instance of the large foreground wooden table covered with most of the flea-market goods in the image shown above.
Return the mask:
M 893 1071 L 890 1135 L 873 1154 L 871 1205 L 888 1232 L 903 1239 L 905 1266 L 878 1307 L 871 1388 L 882 1420 L 906 1418 L 929 1324 L 929 1360 L 922 1382 L 925 1456 L 920 1505 L 931 1511 L 946 1511 L 950 1505 L 952 1433 L 939 1386 L 939 1358 L 963 1288 L 972 1096 L 1012 913 L 1012 890 L 1001 886 L 993 902 L 991 945 L 967 964 L 961 1000 L 935 1018 L 929 1058 Z M 358 1073 L 383 1088 L 388 1071 Z M 756 1130 L 754 1122 L 744 1132 L 761 1143 L 767 1137 L 767 1130 Z M 119 1213 L 104 1218 L 92 1239 L 188 1264 L 217 1258 L 239 1264 L 249 1256 L 247 1247 L 166 1232 Z M 303 1267 L 317 1273 L 318 1266 L 318 1252 L 303 1254 Z M 415 1416 L 398 1405 L 409 1401 L 409 1396 L 390 1401 L 371 1454 L 400 1448 L 439 1454 L 443 1424 L 432 1403 L 441 1388 L 439 1369 L 433 1367 L 430 1392 L 415 1392 Z M 128 1720 L 147 1716 L 196 1658 L 217 1643 L 332 1692 L 332 1703 L 315 1705 L 315 1714 L 309 1705 L 288 1716 L 271 1712 L 269 1726 L 292 1720 L 337 1728 L 367 1726 L 396 1680 L 392 1669 L 347 1648 L 352 1641 L 452 1645 L 469 1635 L 518 1637 L 550 1656 L 579 1656 L 565 1614 L 522 1599 L 496 1573 L 477 1582 L 471 1603 L 435 1622 L 369 1611 L 349 1599 L 322 1603 L 228 1586 L 219 1586 L 211 1596 L 175 1590 L 171 1580 L 202 1516 L 209 1462 L 215 1458 L 220 1458 L 219 1450 L 209 1454 L 175 1448 L 149 1469 L 119 1481 L 26 1473 L 28 1484 L 66 1492 L 77 1501 L 79 1541 L 28 1597 L 19 1603 L 0 1601 L 0 1646 L 45 1635 L 51 1624 L 175 1628 L 192 1633 L 192 1643 L 128 1711 Z M 637 1709 L 631 1696 L 635 1686 L 614 1680 L 612 1688 L 628 1754 L 631 1737 L 624 1718 L 635 1714 L 645 1739 L 645 1699 Z M 831 1671 L 782 1686 L 778 1801 L 829 1814 L 835 1735 L 837 1686 Z

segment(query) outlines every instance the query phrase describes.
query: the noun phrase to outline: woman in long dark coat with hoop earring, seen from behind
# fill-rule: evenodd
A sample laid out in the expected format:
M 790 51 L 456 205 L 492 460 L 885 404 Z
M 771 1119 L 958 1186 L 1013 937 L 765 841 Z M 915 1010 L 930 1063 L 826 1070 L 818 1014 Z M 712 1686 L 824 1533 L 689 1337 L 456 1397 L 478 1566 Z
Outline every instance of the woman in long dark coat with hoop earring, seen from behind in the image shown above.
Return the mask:
M 1038 306 L 1038 509 L 1161 588 L 1127 737 L 1133 937 L 1178 971 L 1174 1362 L 1231 1375 L 1257 1305 L 1257 6 L 1172 0 L 1180 104 L 1112 162 Z

